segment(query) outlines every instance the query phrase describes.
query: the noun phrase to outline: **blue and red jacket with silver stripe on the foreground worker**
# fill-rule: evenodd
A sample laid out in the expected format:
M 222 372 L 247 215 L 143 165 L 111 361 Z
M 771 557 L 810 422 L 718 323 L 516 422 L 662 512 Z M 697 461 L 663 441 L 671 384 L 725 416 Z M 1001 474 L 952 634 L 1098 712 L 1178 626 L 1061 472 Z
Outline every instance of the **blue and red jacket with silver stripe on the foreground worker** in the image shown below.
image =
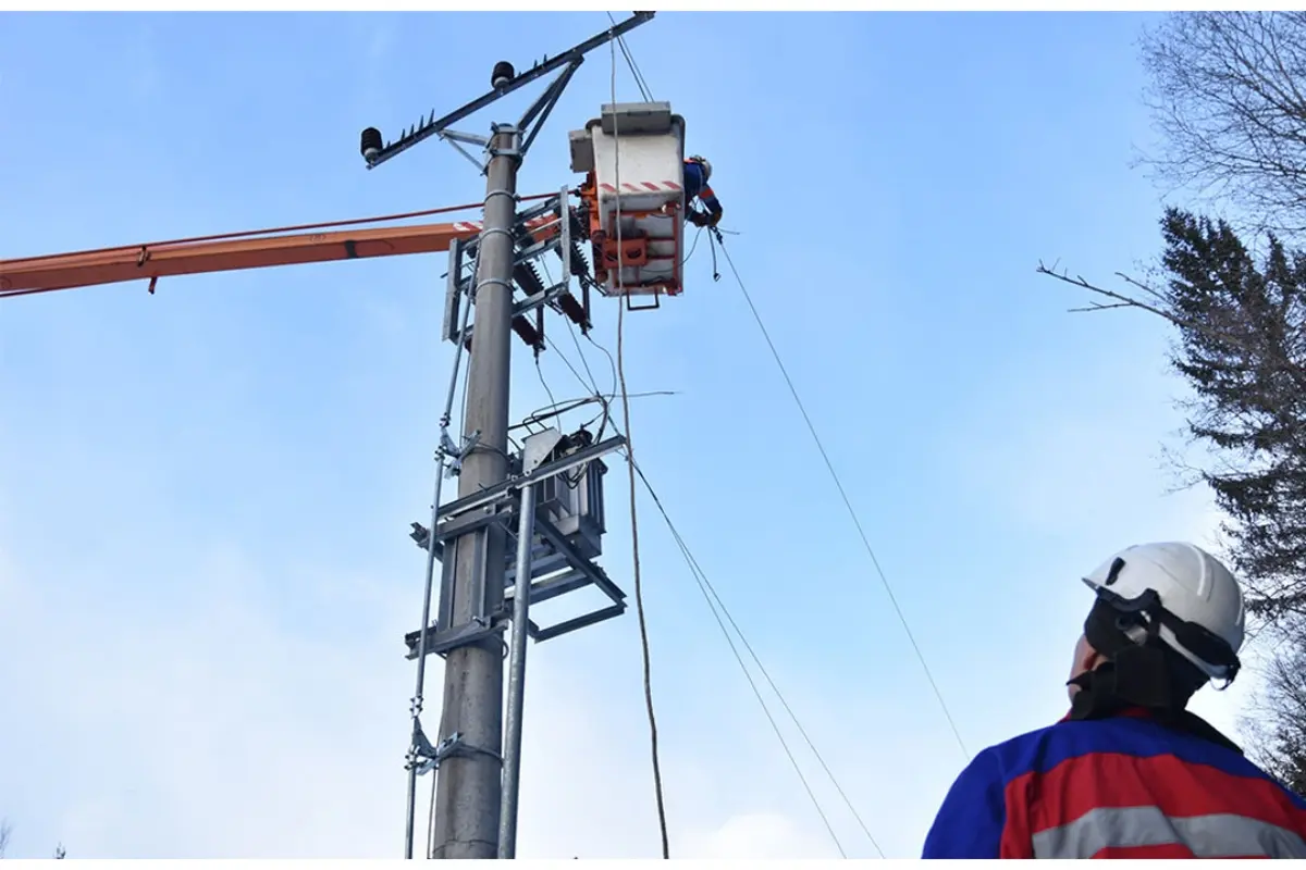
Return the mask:
M 1306 858 L 1306 801 L 1143 712 L 1062 720 L 981 753 L 925 858 Z

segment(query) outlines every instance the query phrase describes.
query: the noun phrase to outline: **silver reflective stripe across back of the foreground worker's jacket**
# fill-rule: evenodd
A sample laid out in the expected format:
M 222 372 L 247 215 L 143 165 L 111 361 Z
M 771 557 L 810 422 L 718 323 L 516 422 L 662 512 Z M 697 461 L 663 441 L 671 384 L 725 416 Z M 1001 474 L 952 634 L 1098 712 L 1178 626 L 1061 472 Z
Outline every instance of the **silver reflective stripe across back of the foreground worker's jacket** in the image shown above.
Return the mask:
M 1101 807 L 1033 837 L 1036 858 L 1091 858 L 1102 849 L 1187 847 L 1199 858 L 1306 858 L 1306 841 L 1245 815 L 1169 818 L 1155 806 Z

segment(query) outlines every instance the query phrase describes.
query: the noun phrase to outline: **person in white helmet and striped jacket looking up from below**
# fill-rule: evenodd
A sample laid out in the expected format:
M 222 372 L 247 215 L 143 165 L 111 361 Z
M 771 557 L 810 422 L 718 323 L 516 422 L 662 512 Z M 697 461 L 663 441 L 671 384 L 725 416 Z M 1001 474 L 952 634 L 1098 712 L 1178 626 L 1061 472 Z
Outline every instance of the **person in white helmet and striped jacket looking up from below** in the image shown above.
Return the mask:
M 923 857 L 1306 858 L 1306 800 L 1186 710 L 1238 674 L 1233 574 L 1191 544 L 1144 544 L 1084 582 L 1070 713 L 982 751 Z

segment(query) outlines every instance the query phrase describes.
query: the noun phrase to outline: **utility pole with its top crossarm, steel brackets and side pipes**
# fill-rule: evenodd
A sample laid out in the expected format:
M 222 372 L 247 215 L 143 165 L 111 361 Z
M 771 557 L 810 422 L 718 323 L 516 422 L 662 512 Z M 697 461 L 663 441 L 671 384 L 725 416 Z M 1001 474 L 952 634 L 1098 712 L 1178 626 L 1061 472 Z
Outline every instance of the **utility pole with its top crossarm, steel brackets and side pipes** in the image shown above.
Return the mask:
M 546 245 L 528 244 L 526 249 L 530 253 L 525 253 L 526 249 L 517 252 L 517 240 L 515 239 L 515 230 L 518 224 L 517 171 L 524 155 L 556 106 L 558 98 L 585 60 L 585 55 L 620 38 L 622 34 L 645 21 L 650 21 L 653 16 L 652 12 L 636 12 L 622 23 L 572 46 L 560 55 L 546 57 L 522 73 L 517 73 L 511 63 L 499 61 L 490 77 L 491 90 L 462 107 L 440 119 L 436 119 L 435 112 L 431 112 L 428 117 L 419 120 L 418 124 L 407 128 L 402 136 L 390 142 L 385 142 L 375 127 L 366 128 L 360 137 L 360 151 L 370 170 L 432 137 L 451 142 L 462 151 L 464 157 L 478 166 L 481 166 L 481 160 L 471 157 L 462 146 L 477 145 L 488 154 L 488 162 L 483 168 L 487 176 L 486 200 L 482 232 L 475 241 L 478 263 L 475 275 L 470 278 L 470 287 L 468 287 L 461 277 L 462 249 L 454 247 L 451 250 L 453 262 L 449 273 L 445 333 L 441 335 L 444 340 L 462 344 L 464 330 L 468 329 L 468 309 L 462 308 L 461 327 L 454 323 L 451 313 L 456 313 L 466 304 L 460 300 L 462 293 L 469 293 L 473 297 L 470 305 L 475 309 L 475 323 L 471 327 L 471 350 L 468 364 L 468 394 L 462 417 L 464 440 L 461 445 L 454 445 L 448 438 L 445 427 L 449 423 L 449 407 L 447 407 L 441 417 L 441 446 L 438 451 L 440 467 L 436 472 L 444 473 L 445 458 L 456 458 L 454 467 L 458 468 L 457 502 L 464 506 L 461 510 L 444 513 L 445 507 L 452 509 L 453 505 L 440 505 L 439 481 L 441 477 L 438 477 L 436 494 L 431 506 L 432 527 L 426 530 L 414 523 L 414 533 L 410 535 L 419 547 L 427 550 L 428 561 L 422 604 L 423 625 L 418 631 L 405 638 L 405 642 L 409 643 L 409 657 L 418 659 L 417 690 L 411 706 L 413 742 L 407 762 L 405 857 L 411 857 L 414 852 L 417 777 L 431 771 L 438 771 L 438 776 L 426 847 L 428 858 L 495 858 L 516 853 L 515 817 L 521 770 L 516 755 L 521 750 L 520 690 L 525 673 L 526 637 L 529 635 L 537 642 L 558 637 L 619 616 L 626 609 L 624 592 L 603 574 L 602 569 L 593 563 L 592 557 L 581 554 L 565 535 L 551 526 L 547 519 L 542 519 L 539 520 L 542 531 L 537 531 L 549 539 L 546 548 L 577 573 L 568 578 L 571 586 L 554 586 L 551 590 L 546 590 L 549 596 L 580 588 L 575 584 L 575 580 L 580 578 L 581 586 L 585 583 L 597 586 L 613 604 L 609 608 L 551 626 L 541 627 L 530 623 L 528 630 L 526 612 L 532 597 L 532 577 L 522 566 L 529 567 L 532 563 L 532 541 L 535 535 L 521 532 L 520 537 L 524 543 L 518 541 L 517 586 L 525 584 L 525 590 L 516 593 L 513 599 L 515 640 L 512 653 L 516 677 L 511 685 L 513 695 L 509 699 L 512 702 L 509 745 L 503 746 L 504 640 L 502 634 L 507 616 L 503 612 L 503 605 L 505 601 L 508 530 L 492 517 L 496 510 L 492 502 L 499 501 L 502 496 L 508 496 L 509 490 L 508 475 L 512 458 L 508 454 L 508 398 L 512 325 L 513 318 L 518 314 L 515 310 L 513 299 L 515 270 L 520 257 L 532 260 L 543 256 L 549 249 Z M 545 89 L 545 93 L 526 110 L 516 125 L 492 125 L 492 134 L 488 138 L 452 129 L 453 124 L 474 112 L 555 72 L 558 76 L 552 83 Z M 567 197 L 568 193 L 564 190 L 558 205 L 550 207 L 556 207 L 560 220 L 559 241 L 555 243 L 554 250 L 562 257 L 564 269 L 569 270 L 571 266 L 567 263 L 579 248 L 573 248 L 569 241 L 571 206 Z M 539 211 L 541 215 L 549 211 L 542 206 L 535 206 L 534 210 Z M 559 292 L 562 295 L 569 292 L 567 290 L 569 275 L 579 273 L 568 271 L 567 274 L 568 278 L 560 286 L 547 290 L 537 288 L 533 291 L 534 295 L 528 293 L 529 297 L 522 300 L 524 310 L 530 312 L 541 309 L 541 305 L 555 305 Z M 579 303 L 576 304 L 579 305 Z M 588 318 L 588 301 L 585 317 Z M 522 339 L 532 343 L 525 335 Z M 454 364 L 452 378 L 456 376 L 457 364 Z M 451 380 L 448 398 L 451 407 L 452 402 Z M 543 480 L 584 466 L 610 450 L 618 449 L 620 443 L 624 443 L 623 438 L 613 437 L 599 445 L 572 451 L 567 458 L 556 459 L 547 467 L 534 468 L 535 480 Z M 534 497 L 532 485 L 528 484 L 522 489 L 524 498 Z M 486 490 L 495 490 L 499 494 L 491 494 L 490 501 L 482 502 L 479 500 L 486 496 Z M 499 506 L 502 507 L 502 505 Z M 470 517 L 468 511 L 477 511 L 478 515 Z M 533 513 L 533 510 L 521 510 L 524 519 L 529 519 Z M 444 524 L 440 522 L 441 514 L 448 520 Z M 488 522 L 471 522 L 486 519 Z M 529 526 L 530 522 L 526 522 L 524 528 Z M 441 532 L 441 528 L 448 528 L 448 535 Z M 590 532 L 597 536 L 602 535 L 601 530 L 597 532 L 590 530 Z M 590 532 L 585 532 L 582 537 Z M 594 553 L 601 549 L 597 543 L 590 543 L 586 547 Z M 430 604 L 435 560 L 439 560 L 441 565 L 440 614 L 436 623 L 432 625 Z M 444 703 L 435 745 L 421 725 L 427 655 L 444 656 Z M 512 757 L 511 763 L 504 763 L 502 753 L 508 753 Z M 502 807 L 509 809 L 503 810 Z M 504 814 L 513 818 L 500 830 L 500 815 Z

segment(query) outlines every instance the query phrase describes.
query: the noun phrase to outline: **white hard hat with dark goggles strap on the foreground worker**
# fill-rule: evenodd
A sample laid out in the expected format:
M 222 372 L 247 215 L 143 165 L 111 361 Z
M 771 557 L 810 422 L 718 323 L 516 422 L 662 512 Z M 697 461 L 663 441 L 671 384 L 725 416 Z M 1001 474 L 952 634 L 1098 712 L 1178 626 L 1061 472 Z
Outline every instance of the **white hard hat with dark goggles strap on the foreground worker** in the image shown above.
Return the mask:
M 1148 614 L 1156 623 L 1151 631 L 1208 677 L 1229 681 L 1237 674 L 1246 633 L 1242 588 L 1202 548 L 1185 543 L 1130 547 L 1084 582 L 1118 610 Z

